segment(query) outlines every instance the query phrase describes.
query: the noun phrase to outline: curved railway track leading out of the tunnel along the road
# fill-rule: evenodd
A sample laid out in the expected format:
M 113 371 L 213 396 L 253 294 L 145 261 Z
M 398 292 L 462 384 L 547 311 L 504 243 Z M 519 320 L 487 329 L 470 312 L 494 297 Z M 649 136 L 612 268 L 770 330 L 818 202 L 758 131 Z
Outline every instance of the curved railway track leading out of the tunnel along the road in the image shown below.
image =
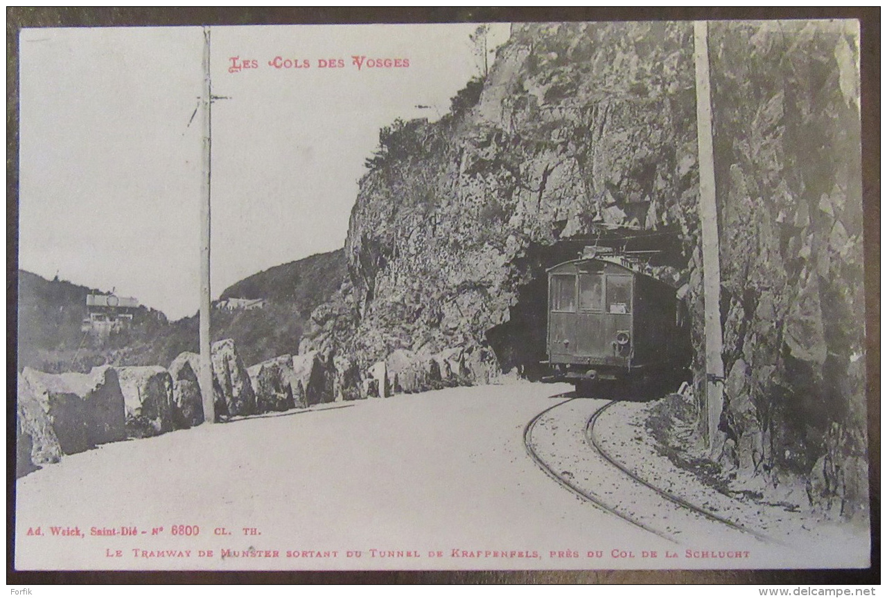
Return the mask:
M 668 492 L 667 490 L 664 490 L 663 488 L 650 483 L 648 480 L 640 478 L 640 476 L 626 467 L 624 463 L 616 461 L 616 459 L 608 453 L 606 448 L 602 446 L 600 439 L 598 439 L 598 437 L 594 433 L 594 425 L 595 423 L 597 423 L 598 418 L 608 408 L 612 407 L 615 404 L 615 401 L 608 401 L 602 407 L 595 409 L 593 411 L 593 414 L 590 416 L 585 415 L 585 423 L 581 434 L 583 436 L 584 446 L 586 448 L 590 448 L 591 452 L 593 453 L 592 455 L 589 455 L 589 459 L 591 460 L 591 465 L 593 466 L 594 473 L 596 474 L 594 482 L 596 482 L 600 478 L 603 478 L 605 481 L 608 480 L 611 485 L 616 485 L 619 491 L 618 494 L 616 495 L 616 493 L 614 492 L 596 492 L 589 487 L 590 485 L 594 485 L 593 482 L 582 484 L 571 472 L 566 470 L 558 472 L 561 467 L 555 466 L 553 460 L 549 460 L 548 462 L 546 462 L 546 459 L 543 457 L 543 455 L 539 454 L 540 450 L 538 448 L 538 444 L 534 442 L 533 434 L 534 431 L 537 429 L 539 423 L 546 420 L 546 415 L 551 415 L 552 412 L 557 410 L 558 408 L 569 408 L 568 404 L 576 400 L 577 398 L 563 400 L 559 403 L 556 403 L 552 407 L 546 408 L 544 411 L 533 417 L 533 419 L 531 419 L 530 422 L 527 423 L 527 425 L 524 427 L 524 447 L 526 448 L 527 453 L 530 454 L 530 457 L 533 459 L 533 461 L 537 463 L 541 470 L 546 472 L 548 477 L 553 478 L 554 481 L 569 490 L 571 493 L 576 494 L 579 498 L 591 502 L 598 509 L 605 511 L 610 515 L 617 516 L 620 519 L 636 527 L 640 527 L 640 529 L 643 529 L 646 532 L 654 533 L 656 536 L 663 538 L 664 540 L 670 540 L 677 544 L 683 543 L 679 537 L 682 530 L 675 528 L 673 525 L 670 526 L 657 524 L 657 520 L 659 519 L 659 517 L 657 517 L 656 515 L 662 515 L 662 513 L 657 512 L 655 515 L 644 515 L 643 513 L 639 513 L 638 509 L 632 509 L 635 503 L 626 503 L 624 497 L 639 495 L 646 495 L 647 497 L 655 496 L 658 498 L 659 502 L 651 501 L 649 498 L 647 498 L 646 502 L 648 505 L 661 505 L 663 504 L 663 502 L 665 502 L 668 504 L 668 509 L 671 509 L 672 511 L 678 510 L 679 512 L 681 512 L 683 514 L 683 519 L 685 520 L 691 517 L 703 519 L 709 524 L 713 523 L 723 525 L 726 528 L 734 530 L 735 532 L 740 532 L 743 535 L 749 536 L 761 542 L 769 544 L 780 544 L 776 540 L 765 536 L 763 533 L 751 530 L 748 527 L 727 519 L 724 516 L 719 516 L 716 513 L 712 513 L 708 509 L 703 509 L 703 507 L 695 505 L 687 501 L 686 499 L 683 499 L 673 493 Z M 585 414 L 587 414 L 587 411 L 585 411 Z M 604 471 L 601 468 L 607 468 L 607 470 Z M 616 476 L 618 476 L 618 479 L 616 479 Z M 608 496 L 607 494 L 610 494 L 610 496 Z M 640 498 L 637 502 L 639 504 L 643 504 L 644 498 Z M 659 509 L 656 510 L 658 511 Z M 662 517 L 662 519 L 665 518 L 666 517 Z M 673 522 L 673 518 L 671 521 Z

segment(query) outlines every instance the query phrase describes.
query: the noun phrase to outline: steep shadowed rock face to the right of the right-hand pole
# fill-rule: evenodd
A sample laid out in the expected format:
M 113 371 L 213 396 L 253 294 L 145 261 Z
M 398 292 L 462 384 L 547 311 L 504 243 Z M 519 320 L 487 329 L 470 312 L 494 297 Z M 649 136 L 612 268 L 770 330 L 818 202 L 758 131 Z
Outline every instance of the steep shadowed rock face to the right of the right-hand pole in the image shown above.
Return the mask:
M 713 23 L 710 47 L 727 432 L 755 439 L 735 464 L 811 478 L 814 506 L 852 516 L 867 505 L 867 438 L 859 55 L 845 27 Z

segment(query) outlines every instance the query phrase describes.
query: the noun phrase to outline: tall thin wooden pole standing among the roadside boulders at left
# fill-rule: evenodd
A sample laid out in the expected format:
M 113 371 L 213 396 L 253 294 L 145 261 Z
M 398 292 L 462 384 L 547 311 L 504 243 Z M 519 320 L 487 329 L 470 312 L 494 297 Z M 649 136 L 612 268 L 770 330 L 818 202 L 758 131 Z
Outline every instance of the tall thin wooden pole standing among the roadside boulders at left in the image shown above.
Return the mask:
M 216 423 L 213 399 L 212 347 L 209 338 L 209 198 L 212 192 L 212 105 L 213 86 L 209 74 L 209 27 L 203 27 L 203 170 L 200 193 L 200 395 L 203 400 L 203 421 Z

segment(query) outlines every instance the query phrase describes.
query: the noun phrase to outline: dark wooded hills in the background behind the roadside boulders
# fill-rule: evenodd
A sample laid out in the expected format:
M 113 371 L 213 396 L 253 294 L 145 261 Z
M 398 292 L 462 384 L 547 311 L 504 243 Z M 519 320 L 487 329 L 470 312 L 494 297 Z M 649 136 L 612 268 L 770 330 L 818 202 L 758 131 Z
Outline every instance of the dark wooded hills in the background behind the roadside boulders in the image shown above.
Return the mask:
M 252 365 L 296 353 L 308 315 L 341 285 L 342 250 L 312 255 L 269 268 L 232 284 L 222 297 L 270 299 L 263 309 L 214 310 L 213 340 L 233 338 Z M 80 330 L 86 295 L 102 292 L 19 270 L 18 367 L 47 372 L 87 371 L 104 364 L 161 365 L 183 351 L 198 352 L 197 315 L 168 322 L 161 312 L 139 307 L 129 330 L 104 343 Z

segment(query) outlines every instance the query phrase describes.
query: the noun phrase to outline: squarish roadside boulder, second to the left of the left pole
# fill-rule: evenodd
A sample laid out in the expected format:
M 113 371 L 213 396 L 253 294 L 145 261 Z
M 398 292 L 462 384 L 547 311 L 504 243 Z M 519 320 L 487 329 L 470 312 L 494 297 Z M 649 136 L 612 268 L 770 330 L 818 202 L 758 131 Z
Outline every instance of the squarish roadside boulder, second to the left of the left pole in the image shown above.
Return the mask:
M 160 366 L 117 368 L 132 438 L 173 430 L 173 380 Z

